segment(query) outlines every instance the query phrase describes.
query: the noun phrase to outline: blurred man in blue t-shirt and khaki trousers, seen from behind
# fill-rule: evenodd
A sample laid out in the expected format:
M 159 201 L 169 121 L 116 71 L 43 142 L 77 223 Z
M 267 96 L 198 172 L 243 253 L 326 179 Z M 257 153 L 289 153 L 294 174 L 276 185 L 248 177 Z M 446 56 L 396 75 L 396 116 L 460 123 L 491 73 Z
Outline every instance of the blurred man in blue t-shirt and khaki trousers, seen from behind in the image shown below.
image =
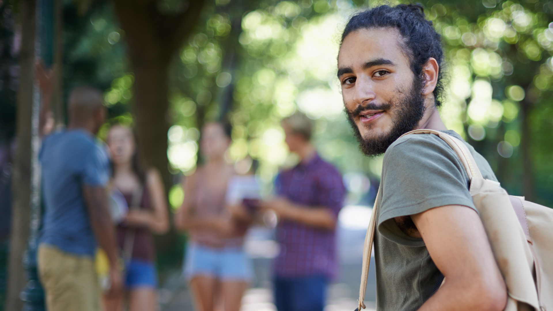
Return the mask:
M 111 264 L 110 291 L 121 287 L 105 191 L 108 158 L 95 138 L 104 120 L 102 93 L 77 87 L 69 98 L 67 129 L 46 137 L 40 149 L 45 215 L 38 269 L 49 311 L 102 309 L 96 243 Z

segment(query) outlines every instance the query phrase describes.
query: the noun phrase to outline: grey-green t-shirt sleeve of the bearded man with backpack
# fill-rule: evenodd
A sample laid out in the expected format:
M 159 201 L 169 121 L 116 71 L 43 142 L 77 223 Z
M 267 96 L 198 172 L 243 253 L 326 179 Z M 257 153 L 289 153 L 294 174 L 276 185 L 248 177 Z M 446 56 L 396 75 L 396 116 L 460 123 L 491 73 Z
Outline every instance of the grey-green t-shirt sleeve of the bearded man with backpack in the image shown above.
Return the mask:
M 468 175 L 447 143 L 431 134 L 400 139 L 384 155 L 378 231 L 389 240 L 409 244 L 414 239 L 399 229 L 394 217 L 444 205 L 476 209 Z

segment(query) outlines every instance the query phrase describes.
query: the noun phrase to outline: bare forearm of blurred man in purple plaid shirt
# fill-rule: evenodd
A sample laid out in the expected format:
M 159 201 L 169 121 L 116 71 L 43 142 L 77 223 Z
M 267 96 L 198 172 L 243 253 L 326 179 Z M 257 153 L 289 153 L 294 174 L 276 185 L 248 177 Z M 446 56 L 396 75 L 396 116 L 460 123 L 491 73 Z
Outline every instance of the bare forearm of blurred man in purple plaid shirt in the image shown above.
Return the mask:
M 262 208 L 274 210 L 280 219 L 297 221 L 325 230 L 336 228 L 336 217 L 325 206 L 300 206 L 289 200 L 279 198 L 264 202 Z

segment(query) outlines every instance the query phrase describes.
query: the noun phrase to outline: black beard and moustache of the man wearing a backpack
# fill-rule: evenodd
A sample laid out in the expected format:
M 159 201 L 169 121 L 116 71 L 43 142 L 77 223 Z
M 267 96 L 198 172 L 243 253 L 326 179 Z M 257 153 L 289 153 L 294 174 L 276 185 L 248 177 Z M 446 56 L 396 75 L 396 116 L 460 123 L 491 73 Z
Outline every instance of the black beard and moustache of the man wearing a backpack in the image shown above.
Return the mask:
M 422 116 L 424 116 L 425 105 L 422 95 L 422 81 L 415 79 L 411 90 L 399 100 L 392 99 L 387 103 L 377 105 L 368 103 L 366 106 L 358 106 L 356 110 L 349 111 L 344 109 L 348 116 L 349 125 L 353 129 L 353 134 L 359 142 L 359 150 L 365 155 L 376 156 L 386 152 L 388 147 L 396 141 L 401 135 L 413 131 L 419 125 Z M 398 91 L 401 94 L 401 91 Z M 390 110 L 393 108 L 393 110 Z M 361 136 L 357 124 L 353 120 L 359 113 L 365 110 L 388 110 L 392 113 L 392 129 L 389 132 L 371 136 Z

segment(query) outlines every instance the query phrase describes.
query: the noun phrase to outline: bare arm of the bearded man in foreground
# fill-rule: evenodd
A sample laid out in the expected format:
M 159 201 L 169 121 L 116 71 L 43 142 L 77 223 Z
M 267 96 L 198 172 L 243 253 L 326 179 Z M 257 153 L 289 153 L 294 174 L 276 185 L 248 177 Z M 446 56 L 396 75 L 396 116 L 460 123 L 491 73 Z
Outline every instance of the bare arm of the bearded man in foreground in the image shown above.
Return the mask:
M 476 211 L 447 205 L 411 215 L 444 285 L 419 311 L 501 311 L 507 289 Z

